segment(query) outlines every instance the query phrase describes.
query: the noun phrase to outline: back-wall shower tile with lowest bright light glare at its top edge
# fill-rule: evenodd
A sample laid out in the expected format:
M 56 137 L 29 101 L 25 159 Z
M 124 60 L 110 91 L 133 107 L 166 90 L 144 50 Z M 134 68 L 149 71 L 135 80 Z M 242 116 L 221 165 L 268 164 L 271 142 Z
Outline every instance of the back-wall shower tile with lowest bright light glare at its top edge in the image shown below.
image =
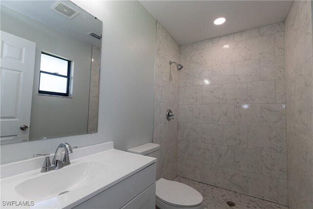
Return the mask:
M 261 126 L 261 105 L 235 105 L 235 125 Z

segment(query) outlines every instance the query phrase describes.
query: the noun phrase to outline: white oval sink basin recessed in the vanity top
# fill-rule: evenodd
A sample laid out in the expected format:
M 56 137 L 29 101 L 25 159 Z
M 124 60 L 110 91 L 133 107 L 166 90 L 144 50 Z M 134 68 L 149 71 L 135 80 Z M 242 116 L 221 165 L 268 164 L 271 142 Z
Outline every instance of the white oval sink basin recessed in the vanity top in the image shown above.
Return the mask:
M 28 179 L 17 185 L 15 190 L 24 198 L 45 200 L 97 182 L 111 170 L 110 165 L 96 161 L 72 164 Z

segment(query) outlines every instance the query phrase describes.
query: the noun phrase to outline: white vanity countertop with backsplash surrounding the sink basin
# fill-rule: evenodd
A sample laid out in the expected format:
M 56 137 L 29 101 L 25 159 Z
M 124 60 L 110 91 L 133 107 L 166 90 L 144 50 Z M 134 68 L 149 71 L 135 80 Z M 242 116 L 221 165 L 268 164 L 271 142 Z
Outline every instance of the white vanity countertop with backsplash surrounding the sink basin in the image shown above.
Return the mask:
M 71 160 L 70 165 L 61 168 L 60 170 L 53 170 L 46 173 L 41 173 L 40 168 L 28 172 L 18 173 L 17 166 L 20 166 L 22 171 L 27 171 L 27 167 L 29 167 L 27 165 L 34 164 L 33 162 L 31 162 L 33 159 L 1 165 L 1 172 L 4 169 L 4 174 L 1 175 L 2 179 L 0 180 L 1 208 L 73 208 L 93 197 L 94 195 L 108 189 L 109 187 L 121 182 L 122 180 L 133 175 L 134 173 L 156 162 L 155 158 L 140 156 L 113 149 L 113 143 L 108 143 L 99 144 L 99 146 L 93 145 L 90 147 L 86 147 L 85 150 L 84 147 L 80 148 L 79 150 L 75 149 L 73 150 L 73 153 L 69 155 L 70 159 L 71 155 L 73 155 L 73 160 Z M 100 151 L 99 147 L 105 147 L 106 150 Z M 97 153 L 90 155 L 90 152 L 94 153 L 95 150 L 97 150 Z M 74 155 L 75 152 L 77 152 L 76 155 Z M 40 162 L 43 163 L 44 159 L 41 158 L 40 160 Z M 25 180 L 40 177 L 50 172 L 58 172 L 62 169 L 67 169 L 70 166 L 75 166 L 84 162 L 104 163 L 111 168 L 105 174 L 101 174 L 103 175 L 103 178 L 99 178 L 96 183 L 88 184 L 80 188 L 71 190 L 70 192 L 63 195 L 52 195 L 50 198 L 47 198 L 45 200 L 27 199 L 21 196 L 16 190 L 16 186 L 18 186 Z M 33 165 L 33 167 L 38 167 L 38 159 L 36 159 L 36 165 Z M 10 176 L 10 174 L 14 175 Z M 57 182 L 55 184 L 57 184 Z M 41 188 L 45 189 L 45 185 L 42 185 Z M 29 201 L 29 203 L 30 201 L 34 201 L 34 205 L 4 207 L 2 201 Z

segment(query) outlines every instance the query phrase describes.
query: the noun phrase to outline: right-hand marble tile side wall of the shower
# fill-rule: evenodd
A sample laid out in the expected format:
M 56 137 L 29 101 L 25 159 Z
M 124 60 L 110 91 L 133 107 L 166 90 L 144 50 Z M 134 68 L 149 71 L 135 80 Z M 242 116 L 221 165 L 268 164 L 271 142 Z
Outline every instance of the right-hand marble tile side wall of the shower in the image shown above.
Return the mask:
M 312 1 L 293 1 L 285 21 L 288 201 L 313 208 Z

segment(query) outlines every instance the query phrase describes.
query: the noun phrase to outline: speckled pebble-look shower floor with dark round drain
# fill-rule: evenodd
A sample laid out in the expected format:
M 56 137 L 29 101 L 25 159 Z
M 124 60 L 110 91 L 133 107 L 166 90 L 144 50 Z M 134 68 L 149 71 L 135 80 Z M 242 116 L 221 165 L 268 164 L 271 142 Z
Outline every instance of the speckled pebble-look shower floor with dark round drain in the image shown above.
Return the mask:
M 203 196 L 204 209 L 288 209 L 287 206 L 179 176 L 174 181 L 184 183 L 199 191 Z M 228 206 L 227 201 L 235 203 L 236 206 Z

